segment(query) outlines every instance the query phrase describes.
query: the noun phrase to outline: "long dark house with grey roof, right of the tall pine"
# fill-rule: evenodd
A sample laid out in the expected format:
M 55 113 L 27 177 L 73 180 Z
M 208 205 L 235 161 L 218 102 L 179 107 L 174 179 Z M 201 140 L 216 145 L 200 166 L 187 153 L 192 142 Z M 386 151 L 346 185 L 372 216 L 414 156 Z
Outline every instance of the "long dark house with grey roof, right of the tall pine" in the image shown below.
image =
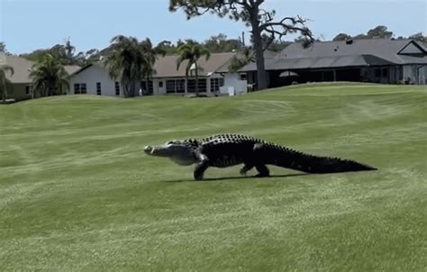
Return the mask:
M 322 81 L 427 84 L 427 48 L 413 40 L 320 41 L 305 49 L 292 43 L 265 65 L 268 87 Z M 255 63 L 240 72 L 248 73 L 248 83 L 256 82 Z

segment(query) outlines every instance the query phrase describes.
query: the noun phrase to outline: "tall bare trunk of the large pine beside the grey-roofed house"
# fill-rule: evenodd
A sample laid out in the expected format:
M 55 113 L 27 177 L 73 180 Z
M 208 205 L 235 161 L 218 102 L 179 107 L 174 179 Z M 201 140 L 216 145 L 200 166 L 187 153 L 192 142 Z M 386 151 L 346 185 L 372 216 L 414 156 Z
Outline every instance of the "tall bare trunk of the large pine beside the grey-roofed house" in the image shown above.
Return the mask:
M 262 90 L 267 88 L 267 73 L 264 63 L 264 51 L 262 50 L 261 30 L 259 29 L 259 10 L 251 11 L 250 25 L 252 27 L 253 47 L 257 59 L 257 89 Z

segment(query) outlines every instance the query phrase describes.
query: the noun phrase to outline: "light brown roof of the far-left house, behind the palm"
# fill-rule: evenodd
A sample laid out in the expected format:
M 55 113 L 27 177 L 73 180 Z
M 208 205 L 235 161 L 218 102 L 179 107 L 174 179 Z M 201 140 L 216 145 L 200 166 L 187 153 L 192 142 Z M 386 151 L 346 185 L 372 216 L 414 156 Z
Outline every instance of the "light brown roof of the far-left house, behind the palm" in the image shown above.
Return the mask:
M 29 84 L 32 82 L 30 78 L 30 69 L 34 62 L 23 59 L 20 57 L 5 55 L 4 53 L 0 54 L 0 65 L 6 64 L 14 68 L 14 75 L 11 77 L 9 73 L 7 73 L 6 78 L 15 84 Z M 64 66 L 68 75 L 76 72 L 80 67 L 77 65 L 67 65 Z

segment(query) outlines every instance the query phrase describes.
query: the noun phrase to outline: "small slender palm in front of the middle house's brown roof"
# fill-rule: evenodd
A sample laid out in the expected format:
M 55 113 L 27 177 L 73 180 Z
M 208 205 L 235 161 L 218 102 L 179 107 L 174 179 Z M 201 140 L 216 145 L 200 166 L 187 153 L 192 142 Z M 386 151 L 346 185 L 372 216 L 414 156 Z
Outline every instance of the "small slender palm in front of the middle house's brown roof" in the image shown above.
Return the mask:
M 190 70 L 195 70 L 195 96 L 199 95 L 199 74 L 198 71 L 199 66 L 197 64 L 197 61 L 202 57 L 205 56 L 206 60 L 208 60 L 211 57 L 211 54 L 209 53 L 209 50 L 204 48 L 203 46 L 199 44 L 183 44 L 178 47 L 178 54 L 179 57 L 177 59 L 177 70 L 181 66 L 181 64 L 187 60 L 186 64 L 186 82 L 188 82 L 188 74 Z

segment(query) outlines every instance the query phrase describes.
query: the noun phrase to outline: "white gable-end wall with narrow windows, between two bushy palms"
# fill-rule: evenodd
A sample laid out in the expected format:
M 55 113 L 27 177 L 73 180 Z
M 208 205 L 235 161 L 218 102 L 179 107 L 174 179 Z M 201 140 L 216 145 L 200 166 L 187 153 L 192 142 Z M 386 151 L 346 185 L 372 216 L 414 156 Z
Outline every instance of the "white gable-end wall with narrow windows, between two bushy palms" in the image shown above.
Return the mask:
M 96 95 L 96 83 L 101 83 L 101 95 L 115 95 L 115 81 L 105 68 L 92 65 L 80 73 L 72 76 L 69 80 L 69 94 L 74 95 L 74 85 L 86 83 L 87 94 Z M 120 86 L 120 95 L 123 96 L 123 86 Z

